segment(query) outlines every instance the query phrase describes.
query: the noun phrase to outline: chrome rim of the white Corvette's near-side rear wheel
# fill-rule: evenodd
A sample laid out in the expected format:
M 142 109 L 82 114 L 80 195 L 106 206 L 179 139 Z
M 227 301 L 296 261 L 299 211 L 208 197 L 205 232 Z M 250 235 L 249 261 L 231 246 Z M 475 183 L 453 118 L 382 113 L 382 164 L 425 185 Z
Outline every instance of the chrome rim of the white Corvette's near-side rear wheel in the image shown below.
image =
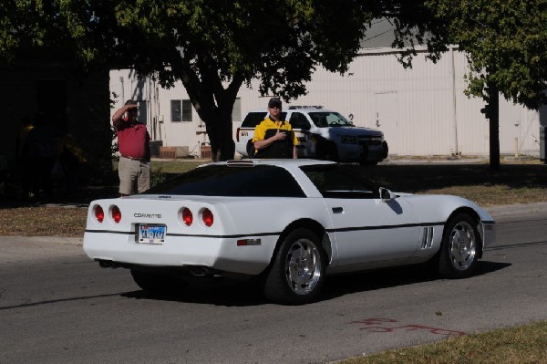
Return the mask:
M 297 295 L 307 295 L 321 279 L 321 255 L 317 246 L 308 239 L 299 239 L 285 256 L 285 278 Z

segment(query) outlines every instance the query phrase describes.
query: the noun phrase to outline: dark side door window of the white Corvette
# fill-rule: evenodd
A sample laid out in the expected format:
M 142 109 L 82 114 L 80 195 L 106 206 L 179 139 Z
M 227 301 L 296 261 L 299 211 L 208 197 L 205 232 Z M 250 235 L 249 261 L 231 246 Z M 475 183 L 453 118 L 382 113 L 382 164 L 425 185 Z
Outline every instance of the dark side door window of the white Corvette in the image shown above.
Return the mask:
M 378 189 L 345 165 L 303 166 L 302 171 L 325 198 L 376 198 Z

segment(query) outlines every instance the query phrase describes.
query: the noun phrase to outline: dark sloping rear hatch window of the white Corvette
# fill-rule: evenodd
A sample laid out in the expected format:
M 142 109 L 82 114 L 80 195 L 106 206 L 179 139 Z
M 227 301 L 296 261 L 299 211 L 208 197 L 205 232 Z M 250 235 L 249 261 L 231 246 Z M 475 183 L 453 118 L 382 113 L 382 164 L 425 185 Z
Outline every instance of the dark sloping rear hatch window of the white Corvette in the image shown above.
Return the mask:
M 183 173 L 150 189 L 147 194 L 305 197 L 291 173 L 271 165 L 207 165 Z

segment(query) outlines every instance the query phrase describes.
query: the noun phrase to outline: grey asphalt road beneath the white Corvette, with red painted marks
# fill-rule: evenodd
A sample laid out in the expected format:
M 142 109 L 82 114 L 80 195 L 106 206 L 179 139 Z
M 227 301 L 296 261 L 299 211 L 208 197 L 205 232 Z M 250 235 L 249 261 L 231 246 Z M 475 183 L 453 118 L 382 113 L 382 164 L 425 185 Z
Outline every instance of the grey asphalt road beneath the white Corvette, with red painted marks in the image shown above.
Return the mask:
M 322 363 L 547 319 L 547 209 L 492 213 L 477 276 L 335 276 L 303 307 L 223 280 L 147 296 L 74 240 L 0 237 L 0 363 Z

